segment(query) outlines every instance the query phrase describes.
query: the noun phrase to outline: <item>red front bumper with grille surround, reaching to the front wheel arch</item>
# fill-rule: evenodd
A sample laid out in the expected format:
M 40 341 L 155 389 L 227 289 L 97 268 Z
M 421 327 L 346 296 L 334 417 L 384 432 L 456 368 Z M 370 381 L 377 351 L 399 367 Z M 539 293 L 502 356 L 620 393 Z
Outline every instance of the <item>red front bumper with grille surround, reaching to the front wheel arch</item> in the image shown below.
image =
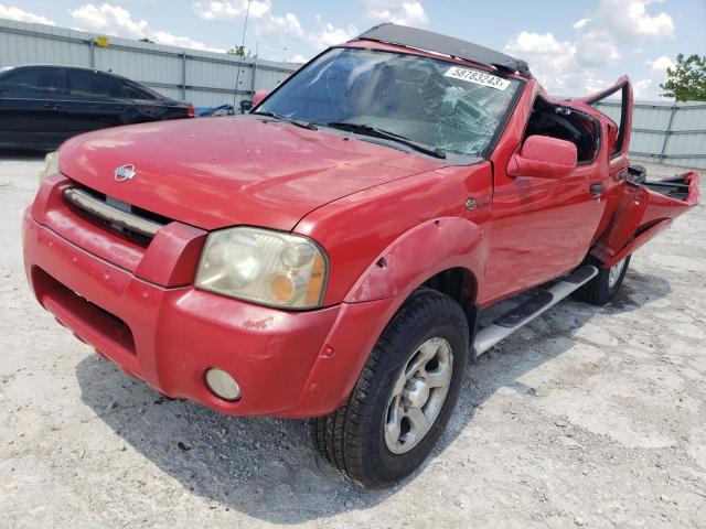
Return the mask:
M 73 210 L 73 185 L 49 176 L 24 213 L 32 290 L 79 339 L 170 397 L 234 415 L 330 413 L 406 298 L 288 312 L 196 290 L 206 231 L 171 222 L 138 244 Z M 210 367 L 235 377 L 240 400 L 206 388 Z

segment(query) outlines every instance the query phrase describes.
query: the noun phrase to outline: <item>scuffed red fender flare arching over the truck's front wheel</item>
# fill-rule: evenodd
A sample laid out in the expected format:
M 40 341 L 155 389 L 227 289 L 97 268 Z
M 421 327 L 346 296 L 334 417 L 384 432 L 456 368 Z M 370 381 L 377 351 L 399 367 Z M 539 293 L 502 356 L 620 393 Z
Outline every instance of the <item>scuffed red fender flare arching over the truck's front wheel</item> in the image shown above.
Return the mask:
M 361 274 L 317 356 L 295 407 L 286 417 L 321 417 L 351 395 L 375 343 L 408 295 L 450 268 L 482 278 L 484 230 L 468 219 L 425 222 L 392 242 Z

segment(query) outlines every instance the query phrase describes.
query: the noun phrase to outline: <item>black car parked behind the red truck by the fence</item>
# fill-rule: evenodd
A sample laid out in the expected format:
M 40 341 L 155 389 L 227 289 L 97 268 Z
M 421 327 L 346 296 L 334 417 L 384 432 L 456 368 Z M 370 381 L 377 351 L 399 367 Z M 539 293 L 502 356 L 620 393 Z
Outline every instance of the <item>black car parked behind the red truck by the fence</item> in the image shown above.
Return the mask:
M 111 73 L 68 66 L 0 72 L 0 148 L 55 149 L 83 132 L 193 117 L 193 107 Z

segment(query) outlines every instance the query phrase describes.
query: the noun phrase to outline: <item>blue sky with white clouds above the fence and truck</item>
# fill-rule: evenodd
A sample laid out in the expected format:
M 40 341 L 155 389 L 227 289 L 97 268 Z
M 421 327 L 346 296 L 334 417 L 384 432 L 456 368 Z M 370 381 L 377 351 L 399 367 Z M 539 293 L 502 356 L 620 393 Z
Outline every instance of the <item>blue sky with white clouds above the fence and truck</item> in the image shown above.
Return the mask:
M 224 52 L 243 39 L 247 0 L 0 0 L 0 18 Z M 252 0 L 250 53 L 306 62 L 395 22 L 524 58 L 549 93 L 589 94 L 628 74 L 660 99 L 678 53 L 706 53 L 706 0 Z

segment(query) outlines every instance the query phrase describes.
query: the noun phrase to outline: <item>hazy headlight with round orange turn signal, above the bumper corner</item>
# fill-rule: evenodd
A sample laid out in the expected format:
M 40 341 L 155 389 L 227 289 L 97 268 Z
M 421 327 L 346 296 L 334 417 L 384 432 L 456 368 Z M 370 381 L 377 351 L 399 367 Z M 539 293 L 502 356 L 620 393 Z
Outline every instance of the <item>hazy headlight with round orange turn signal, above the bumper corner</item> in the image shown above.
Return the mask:
M 286 309 L 321 306 L 328 261 L 315 242 L 259 228 L 208 235 L 195 284 L 218 294 Z

